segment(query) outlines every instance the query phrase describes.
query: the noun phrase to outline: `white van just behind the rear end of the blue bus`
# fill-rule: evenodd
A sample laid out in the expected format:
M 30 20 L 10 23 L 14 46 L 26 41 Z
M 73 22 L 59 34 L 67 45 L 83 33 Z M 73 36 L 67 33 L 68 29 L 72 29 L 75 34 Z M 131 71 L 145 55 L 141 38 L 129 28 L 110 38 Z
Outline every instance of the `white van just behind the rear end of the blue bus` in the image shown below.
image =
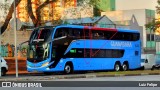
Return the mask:
M 142 54 L 141 55 L 141 67 L 142 69 L 153 69 L 155 65 L 154 54 Z

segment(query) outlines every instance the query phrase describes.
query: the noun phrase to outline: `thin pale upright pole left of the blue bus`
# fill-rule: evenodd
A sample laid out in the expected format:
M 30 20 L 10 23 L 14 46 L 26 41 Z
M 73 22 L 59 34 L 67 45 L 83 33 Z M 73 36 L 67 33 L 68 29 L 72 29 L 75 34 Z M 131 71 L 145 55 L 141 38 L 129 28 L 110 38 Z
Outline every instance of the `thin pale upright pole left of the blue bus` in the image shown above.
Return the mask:
M 17 22 L 16 22 L 16 0 L 14 0 L 14 44 L 15 44 L 15 67 L 16 67 L 16 77 L 18 77 L 18 60 L 17 60 Z

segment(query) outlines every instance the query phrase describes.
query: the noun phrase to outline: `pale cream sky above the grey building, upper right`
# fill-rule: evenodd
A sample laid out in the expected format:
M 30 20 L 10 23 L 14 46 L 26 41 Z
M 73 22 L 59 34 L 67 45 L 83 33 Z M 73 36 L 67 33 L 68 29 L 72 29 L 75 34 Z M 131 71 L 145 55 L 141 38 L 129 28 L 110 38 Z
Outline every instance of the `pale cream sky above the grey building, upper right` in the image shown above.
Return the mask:
M 156 10 L 157 0 L 116 0 L 117 10 L 152 9 Z

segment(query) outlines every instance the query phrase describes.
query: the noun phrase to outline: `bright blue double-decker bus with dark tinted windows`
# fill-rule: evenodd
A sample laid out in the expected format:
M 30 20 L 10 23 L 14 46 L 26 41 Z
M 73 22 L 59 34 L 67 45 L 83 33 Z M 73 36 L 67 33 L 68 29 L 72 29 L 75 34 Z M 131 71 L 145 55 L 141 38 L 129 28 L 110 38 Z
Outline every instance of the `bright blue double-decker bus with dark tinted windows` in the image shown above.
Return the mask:
M 34 29 L 29 42 L 29 72 L 115 70 L 140 68 L 137 30 L 60 25 Z

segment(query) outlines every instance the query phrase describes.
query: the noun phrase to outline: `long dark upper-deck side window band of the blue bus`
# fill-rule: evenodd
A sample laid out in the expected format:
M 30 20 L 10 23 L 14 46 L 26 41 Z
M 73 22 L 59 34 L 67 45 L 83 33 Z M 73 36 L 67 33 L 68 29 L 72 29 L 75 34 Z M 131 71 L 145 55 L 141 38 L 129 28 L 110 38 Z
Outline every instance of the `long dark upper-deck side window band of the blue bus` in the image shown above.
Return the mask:
M 75 39 L 106 39 L 106 40 L 123 40 L 137 41 L 140 38 L 139 33 L 101 31 L 77 28 L 59 28 L 56 30 L 55 38 L 68 36 Z

